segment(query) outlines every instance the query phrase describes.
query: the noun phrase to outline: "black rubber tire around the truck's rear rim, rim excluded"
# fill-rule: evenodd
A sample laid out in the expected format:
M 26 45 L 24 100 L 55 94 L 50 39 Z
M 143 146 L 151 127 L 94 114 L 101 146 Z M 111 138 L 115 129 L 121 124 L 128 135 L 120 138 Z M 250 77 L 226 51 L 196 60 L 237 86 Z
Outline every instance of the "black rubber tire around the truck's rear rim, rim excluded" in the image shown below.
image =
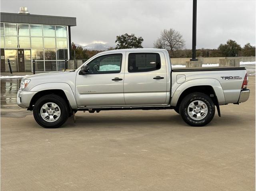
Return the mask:
M 206 117 L 204 117 L 201 120 L 194 120 L 190 118 L 190 116 L 188 115 L 188 105 L 192 101 L 196 101 L 196 100 L 204 101 L 204 103 L 206 103 L 208 107 L 208 113 Z M 180 105 L 180 115 L 182 116 L 182 119 L 186 123 L 192 126 L 204 126 L 210 123 L 210 121 L 212 121 L 212 118 L 214 117 L 214 114 L 215 114 L 215 107 L 212 99 L 209 96 L 202 93 L 189 94 L 182 100 Z

